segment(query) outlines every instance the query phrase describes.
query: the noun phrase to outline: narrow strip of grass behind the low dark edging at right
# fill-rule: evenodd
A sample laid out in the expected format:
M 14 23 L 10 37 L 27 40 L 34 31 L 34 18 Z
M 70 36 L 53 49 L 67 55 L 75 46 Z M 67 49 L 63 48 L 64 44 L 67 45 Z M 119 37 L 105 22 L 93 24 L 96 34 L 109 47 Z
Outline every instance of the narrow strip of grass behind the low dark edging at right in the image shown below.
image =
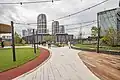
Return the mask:
M 96 50 L 96 45 L 85 45 L 85 44 L 76 44 L 76 47 L 81 49 L 93 49 Z M 117 50 L 120 51 L 120 47 L 111 47 L 111 46 L 100 46 L 100 50 Z

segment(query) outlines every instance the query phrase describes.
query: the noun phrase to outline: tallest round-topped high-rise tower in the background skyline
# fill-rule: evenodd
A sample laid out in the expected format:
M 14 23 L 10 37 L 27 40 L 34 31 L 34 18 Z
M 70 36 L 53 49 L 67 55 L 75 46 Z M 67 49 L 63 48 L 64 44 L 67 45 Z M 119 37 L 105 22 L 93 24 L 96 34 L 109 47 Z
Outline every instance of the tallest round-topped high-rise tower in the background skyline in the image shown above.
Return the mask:
M 47 19 L 45 14 L 40 14 L 37 17 L 38 33 L 47 33 Z

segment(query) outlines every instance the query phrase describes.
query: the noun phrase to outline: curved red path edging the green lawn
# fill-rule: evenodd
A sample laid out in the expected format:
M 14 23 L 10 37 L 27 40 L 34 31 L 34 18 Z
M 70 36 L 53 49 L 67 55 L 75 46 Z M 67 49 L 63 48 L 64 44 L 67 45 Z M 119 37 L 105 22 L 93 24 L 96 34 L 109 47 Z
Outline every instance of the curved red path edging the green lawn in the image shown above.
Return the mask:
M 22 66 L 0 73 L 0 80 L 11 80 L 39 66 L 50 55 L 47 49 L 40 49 L 40 56 Z

